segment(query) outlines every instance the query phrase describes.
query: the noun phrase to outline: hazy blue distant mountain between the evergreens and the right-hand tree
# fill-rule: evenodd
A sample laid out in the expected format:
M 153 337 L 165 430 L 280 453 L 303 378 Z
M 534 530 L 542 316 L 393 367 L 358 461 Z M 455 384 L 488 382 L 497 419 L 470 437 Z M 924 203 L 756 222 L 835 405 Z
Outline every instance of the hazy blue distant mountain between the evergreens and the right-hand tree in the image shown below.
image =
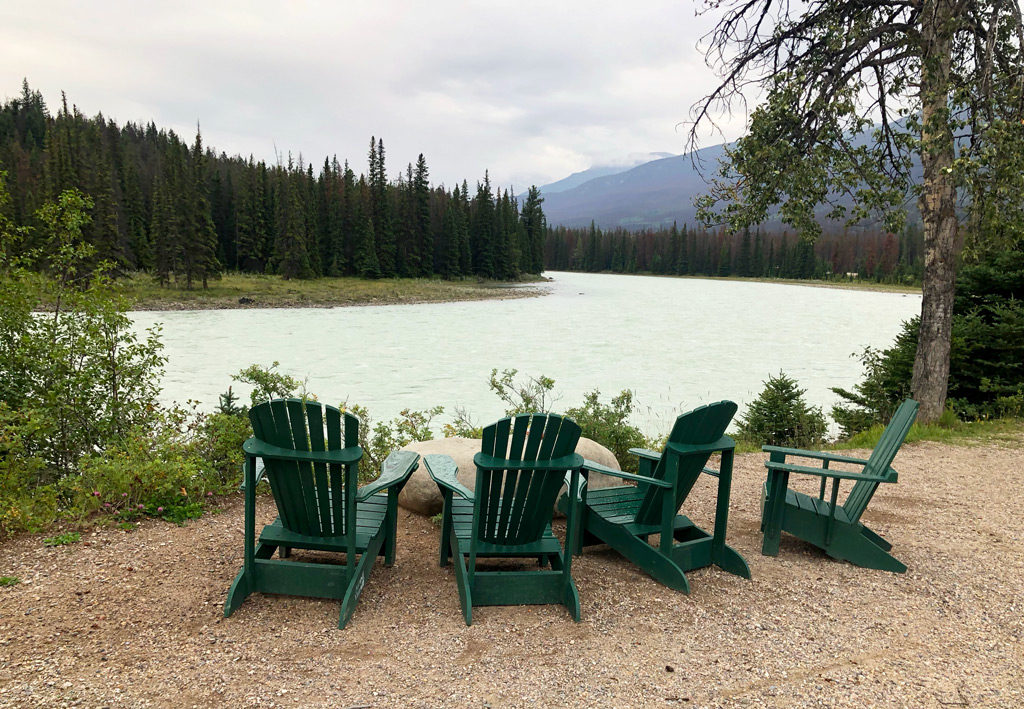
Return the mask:
M 725 154 L 724 145 L 699 151 L 705 169 L 712 171 Z M 599 168 L 592 168 L 596 170 Z M 674 155 L 651 160 L 613 173 L 594 174 L 590 179 L 565 182 L 586 175 L 578 172 L 541 187 L 548 223 L 587 226 L 593 219 L 599 226 L 646 228 L 671 226 L 673 221 L 693 224 L 693 198 L 705 191 L 703 178 L 690 156 Z M 556 186 L 551 191 L 551 186 Z

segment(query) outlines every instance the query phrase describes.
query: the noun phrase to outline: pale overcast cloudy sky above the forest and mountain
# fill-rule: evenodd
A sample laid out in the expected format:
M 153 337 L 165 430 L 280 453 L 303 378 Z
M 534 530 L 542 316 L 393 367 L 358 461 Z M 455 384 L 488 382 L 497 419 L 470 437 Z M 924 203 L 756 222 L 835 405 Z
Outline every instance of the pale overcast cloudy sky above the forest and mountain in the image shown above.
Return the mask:
M 6 2 L 0 96 L 22 78 L 51 109 L 155 121 L 208 145 L 517 191 L 630 154 L 681 153 L 713 86 L 714 19 L 662 2 Z M 738 119 L 736 119 L 738 121 Z M 725 128 L 738 134 L 739 124 Z M 717 140 L 709 139 L 708 142 Z

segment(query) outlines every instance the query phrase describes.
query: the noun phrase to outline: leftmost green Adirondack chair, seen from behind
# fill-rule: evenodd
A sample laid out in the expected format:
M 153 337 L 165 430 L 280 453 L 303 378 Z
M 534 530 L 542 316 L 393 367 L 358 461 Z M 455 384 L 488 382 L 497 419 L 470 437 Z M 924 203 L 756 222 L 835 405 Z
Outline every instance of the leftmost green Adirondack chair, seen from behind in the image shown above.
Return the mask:
M 246 441 L 245 556 L 227 592 L 224 617 L 254 591 L 341 600 L 338 627 L 352 616 L 374 560 L 394 562 L 398 493 L 419 456 L 388 456 L 378 479 L 356 489 L 359 422 L 316 402 L 279 399 L 249 411 Z M 264 467 L 257 472 L 257 459 Z M 256 485 L 265 475 L 278 518 L 256 540 Z M 280 549 L 281 558 L 271 558 Z M 291 549 L 345 554 L 345 564 L 287 560 Z

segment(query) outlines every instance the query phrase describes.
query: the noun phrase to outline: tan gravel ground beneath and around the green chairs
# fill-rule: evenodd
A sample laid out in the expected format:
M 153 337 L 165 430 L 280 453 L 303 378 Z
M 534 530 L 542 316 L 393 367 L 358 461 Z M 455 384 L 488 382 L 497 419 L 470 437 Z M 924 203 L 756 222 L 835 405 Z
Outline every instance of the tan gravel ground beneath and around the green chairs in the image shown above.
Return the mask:
M 0 546 L 22 579 L 0 588 L 0 706 L 1024 706 L 1024 449 L 920 444 L 895 467 L 864 519 L 904 575 L 786 536 L 762 556 L 763 458 L 739 456 L 729 542 L 753 581 L 705 569 L 682 595 L 594 547 L 573 564 L 579 624 L 496 607 L 467 628 L 437 528 L 404 511 L 397 562 L 343 631 L 338 603 L 308 598 L 221 617 L 240 499 L 181 528 L 23 537 Z M 687 503 L 698 522 L 713 491 Z

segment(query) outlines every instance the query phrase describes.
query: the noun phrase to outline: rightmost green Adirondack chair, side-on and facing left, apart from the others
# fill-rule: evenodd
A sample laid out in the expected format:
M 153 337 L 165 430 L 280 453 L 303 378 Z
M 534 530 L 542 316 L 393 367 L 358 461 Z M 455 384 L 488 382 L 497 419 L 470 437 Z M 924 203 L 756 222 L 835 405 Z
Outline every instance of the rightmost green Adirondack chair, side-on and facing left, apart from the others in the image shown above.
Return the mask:
M 761 529 L 764 542 L 761 553 L 778 554 L 782 532 L 810 542 L 834 558 L 846 559 L 858 567 L 879 569 L 902 574 L 906 566 L 897 560 L 889 550 L 892 544 L 860 522 L 871 496 L 882 483 L 897 482 L 897 473 L 890 467 L 907 431 L 918 417 L 918 402 L 903 402 L 886 426 L 879 444 L 867 460 L 818 453 L 778 446 L 765 446 L 769 454 L 765 463 L 768 479 L 765 482 L 761 511 Z M 787 457 L 811 458 L 821 461 L 821 467 L 787 463 Z M 849 463 L 863 466 L 862 472 L 828 469 L 829 463 Z M 818 496 L 811 497 L 788 489 L 790 474 L 804 473 L 821 478 Z M 825 500 L 825 487 L 831 479 L 831 493 Z M 841 481 L 855 481 L 850 495 L 842 506 L 838 504 Z

